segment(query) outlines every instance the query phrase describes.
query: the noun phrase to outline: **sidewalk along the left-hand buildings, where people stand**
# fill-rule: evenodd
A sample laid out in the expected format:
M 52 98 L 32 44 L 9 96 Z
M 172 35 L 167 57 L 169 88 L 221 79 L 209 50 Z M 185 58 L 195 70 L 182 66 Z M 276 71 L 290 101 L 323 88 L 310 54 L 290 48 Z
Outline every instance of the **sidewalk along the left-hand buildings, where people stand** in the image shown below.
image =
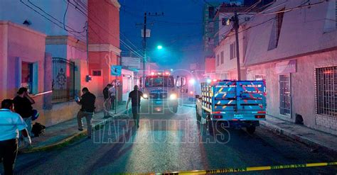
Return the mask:
M 117 114 L 114 115 L 114 110 L 110 111 L 112 117 L 125 113 L 127 110 L 125 109 L 125 105 L 117 106 Z M 107 120 L 104 118 L 103 111 L 99 113 L 95 113 L 92 118 L 92 128 L 98 123 Z M 41 135 L 40 137 L 33 137 L 31 139 L 32 145 L 31 147 L 20 149 L 20 152 L 36 152 L 41 150 L 50 149 L 53 147 L 58 147 L 60 145 L 65 144 L 65 142 L 69 142 L 70 140 L 75 139 L 76 137 L 81 137 L 86 135 L 87 133 L 87 125 L 85 118 L 82 118 L 84 130 L 79 131 L 77 127 L 77 118 L 74 116 L 73 119 L 65 121 L 63 123 L 58 123 L 57 125 L 50 126 L 46 128 L 45 135 Z

